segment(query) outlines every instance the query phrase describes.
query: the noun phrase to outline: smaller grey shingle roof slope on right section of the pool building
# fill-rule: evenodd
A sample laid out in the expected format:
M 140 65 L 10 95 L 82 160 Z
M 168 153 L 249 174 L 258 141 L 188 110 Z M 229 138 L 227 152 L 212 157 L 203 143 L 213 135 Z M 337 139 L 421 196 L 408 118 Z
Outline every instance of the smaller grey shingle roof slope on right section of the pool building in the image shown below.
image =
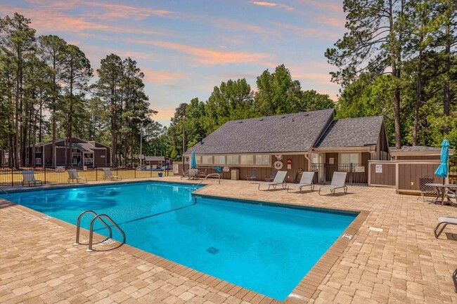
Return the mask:
M 382 116 L 338 119 L 332 122 L 316 147 L 363 147 L 376 145 Z

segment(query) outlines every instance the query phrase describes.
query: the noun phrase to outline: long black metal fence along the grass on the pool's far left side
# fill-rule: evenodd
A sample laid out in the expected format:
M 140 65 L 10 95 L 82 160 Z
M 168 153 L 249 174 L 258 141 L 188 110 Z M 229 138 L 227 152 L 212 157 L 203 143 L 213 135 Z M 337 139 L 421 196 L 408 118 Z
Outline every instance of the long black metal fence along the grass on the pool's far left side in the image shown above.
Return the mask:
M 78 176 L 85 178 L 87 181 L 110 180 L 105 178 L 103 167 L 73 167 L 77 169 Z M 157 176 L 173 176 L 173 171 L 153 171 L 153 170 L 136 170 L 135 168 L 110 168 L 113 176 L 119 176 L 121 179 L 127 178 L 153 178 Z M 21 167 L 17 168 L 0 168 L 0 186 L 22 185 L 22 171 L 34 171 L 34 178 L 41 180 L 43 183 L 68 183 L 69 174 L 67 168 L 46 168 L 46 167 Z M 27 183 L 28 185 L 28 183 Z

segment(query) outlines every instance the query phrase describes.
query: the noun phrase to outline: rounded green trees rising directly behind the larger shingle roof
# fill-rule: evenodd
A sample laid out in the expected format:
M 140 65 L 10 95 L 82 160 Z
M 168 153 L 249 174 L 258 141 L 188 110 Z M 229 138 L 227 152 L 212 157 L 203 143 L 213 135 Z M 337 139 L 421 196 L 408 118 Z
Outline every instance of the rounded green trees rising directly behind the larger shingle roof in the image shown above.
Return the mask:
M 328 95 L 302 91 L 300 81 L 293 80 L 290 71 L 279 65 L 274 72 L 265 70 L 257 77 L 257 91 L 246 79 L 228 80 L 214 86 L 206 101 L 193 98 L 176 108 L 167 133 L 154 145 L 173 159 L 180 159 L 184 150 L 195 145 L 212 131 L 234 119 L 247 119 L 276 114 L 322 110 L 335 107 Z M 243 136 L 243 135 L 240 135 Z

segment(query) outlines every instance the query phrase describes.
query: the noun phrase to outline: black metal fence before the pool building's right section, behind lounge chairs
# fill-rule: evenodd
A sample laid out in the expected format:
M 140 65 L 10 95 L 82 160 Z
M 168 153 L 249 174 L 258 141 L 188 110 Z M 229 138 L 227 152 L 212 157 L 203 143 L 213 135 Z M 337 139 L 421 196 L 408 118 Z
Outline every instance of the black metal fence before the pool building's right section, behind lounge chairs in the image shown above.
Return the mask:
M 317 173 L 316 183 L 331 183 L 334 172 L 347 172 L 349 185 L 368 184 L 368 164 L 311 164 Z

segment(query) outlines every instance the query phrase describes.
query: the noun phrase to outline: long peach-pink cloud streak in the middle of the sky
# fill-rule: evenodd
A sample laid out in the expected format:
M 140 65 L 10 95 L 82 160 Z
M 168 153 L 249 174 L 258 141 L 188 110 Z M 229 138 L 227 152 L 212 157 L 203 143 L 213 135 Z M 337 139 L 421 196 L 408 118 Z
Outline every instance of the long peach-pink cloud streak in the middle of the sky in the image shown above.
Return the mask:
M 196 62 L 203 65 L 226 65 L 231 63 L 250 62 L 262 63 L 263 60 L 271 57 L 266 53 L 231 52 L 212 48 L 200 48 L 197 46 L 189 46 L 187 44 L 178 44 L 176 42 L 161 40 L 128 39 L 128 41 L 137 44 L 158 46 L 160 48 L 167 48 L 169 50 L 192 55 Z

